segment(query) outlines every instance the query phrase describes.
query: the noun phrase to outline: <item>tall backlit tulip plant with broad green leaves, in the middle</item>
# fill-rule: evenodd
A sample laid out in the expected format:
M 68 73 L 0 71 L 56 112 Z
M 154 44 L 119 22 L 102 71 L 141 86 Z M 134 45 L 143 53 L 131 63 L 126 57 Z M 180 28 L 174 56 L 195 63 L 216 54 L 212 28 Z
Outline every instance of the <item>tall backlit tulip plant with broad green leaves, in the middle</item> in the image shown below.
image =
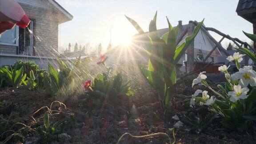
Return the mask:
M 139 66 L 141 73 L 149 84 L 159 92 L 159 99 L 165 108 L 170 105 L 169 103 L 176 90 L 176 64 L 196 37 L 204 20 L 196 26 L 191 36 L 186 37 L 185 41 L 177 46 L 176 35 L 178 27 L 173 28 L 167 18 L 169 32 L 159 37 L 156 29 L 156 15 L 157 12 L 149 24 L 148 37 L 146 37 L 146 40 L 142 40 L 146 41 L 146 49 L 144 51 L 149 56 L 148 69 L 144 68 L 143 64 L 139 64 Z M 126 18 L 140 35 L 145 35 L 145 32 L 136 21 L 127 16 Z

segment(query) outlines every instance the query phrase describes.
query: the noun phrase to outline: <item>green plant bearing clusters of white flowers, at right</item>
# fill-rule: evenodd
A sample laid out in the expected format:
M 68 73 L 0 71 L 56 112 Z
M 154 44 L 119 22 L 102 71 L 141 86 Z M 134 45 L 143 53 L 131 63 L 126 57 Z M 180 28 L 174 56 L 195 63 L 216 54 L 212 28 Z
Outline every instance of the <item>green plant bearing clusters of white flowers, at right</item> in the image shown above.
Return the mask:
M 245 32 L 244 32 L 245 33 Z M 249 38 L 256 41 L 256 35 L 247 34 Z M 255 60 L 255 54 L 248 49 L 240 49 L 240 52 Z M 199 76 L 193 80 L 193 84 L 201 83 L 217 95 L 198 97 L 198 93 L 202 92 L 197 90 L 192 96 L 190 101 L 191 105 L 201 104 L 207 105 L 213 112 L 218 113 L 221 117 L 221 124 L 231 130 L 246 132 L 252 125 L 252 120 L 256 116 L 256 72 L 252 66 L 244 66 L 241 68 L 240 62 L 242 56 L 239 52 L 234 53 L 233 56 L 228 56 L 229 61 L 235 61 L 236 67 L 239 72 L 232 75 L 228 73 L 226 65 L 220 66 L 219 71 L 225 74 L 227 82 L 224 86 L 218 85 L 219 90 L 213 89 L 206 81 L 207 76 L 200 73 Z M 203 92 L 204 93 L 204 92 Z

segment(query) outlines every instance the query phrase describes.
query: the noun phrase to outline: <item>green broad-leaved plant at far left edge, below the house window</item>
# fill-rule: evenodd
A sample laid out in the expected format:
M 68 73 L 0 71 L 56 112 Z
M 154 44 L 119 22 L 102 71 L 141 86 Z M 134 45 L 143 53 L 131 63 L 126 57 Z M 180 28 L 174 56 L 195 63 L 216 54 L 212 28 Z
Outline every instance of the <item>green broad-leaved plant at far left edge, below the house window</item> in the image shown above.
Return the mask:
M 0 68 L 1 72 L 5 73 L 7 76 L 8 84 L 11 84 L 12 87 L 18 87 L 21 82 L 26 79 L 26 73 L 24 74 L 23 67 L 19 70 L 16 70 L 17 67 L 15 66 L 14 69 L 11 68 L 9 71 L 7 68 Z

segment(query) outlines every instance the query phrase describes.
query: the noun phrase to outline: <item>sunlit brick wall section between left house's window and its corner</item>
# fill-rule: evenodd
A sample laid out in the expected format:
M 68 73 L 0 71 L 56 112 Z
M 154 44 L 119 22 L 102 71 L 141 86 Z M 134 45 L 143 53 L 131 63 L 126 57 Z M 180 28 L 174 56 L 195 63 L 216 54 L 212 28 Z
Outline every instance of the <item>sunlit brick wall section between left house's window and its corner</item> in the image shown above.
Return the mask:
M 47 3 L 46 3 L 47 4 Z M 33 38 L 36 56 L 53 56 L 58 52 L 58 15 L 53 8 L 36 8 L 20 4 L 27 16 L 34 20 Z

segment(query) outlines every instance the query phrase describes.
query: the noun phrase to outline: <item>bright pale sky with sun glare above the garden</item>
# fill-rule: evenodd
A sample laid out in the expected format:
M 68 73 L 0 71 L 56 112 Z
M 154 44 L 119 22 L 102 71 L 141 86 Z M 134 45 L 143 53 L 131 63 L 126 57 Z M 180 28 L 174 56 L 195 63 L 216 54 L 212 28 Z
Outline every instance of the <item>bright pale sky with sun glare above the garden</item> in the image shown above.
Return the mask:
M 220 32 L 250 40 L 242 31 L 252 33 L 252 24 L 237 16 L 238 0 L 56 0 L 72 14 L 73 20 L 60 24 L 60 48 L 68 43 L 78 45 L 90 43 L 92 48 L 101 43 L 106 49 L 109 41 L 116 46 L 127 42 L 136 34 L 136 29 L 125 18 L 131 17 L 148 31 L 150 20 L 157 11 L 157 29 L 168 28 L 166 16 L 176 26 L 179 20 L 188 24 L 189 20 L 204 20 L 206 27 L 216 28 Z M 218 41 L 222 38 L 213 32 Z M 224 40 L 222 45 L 228 45 Z

